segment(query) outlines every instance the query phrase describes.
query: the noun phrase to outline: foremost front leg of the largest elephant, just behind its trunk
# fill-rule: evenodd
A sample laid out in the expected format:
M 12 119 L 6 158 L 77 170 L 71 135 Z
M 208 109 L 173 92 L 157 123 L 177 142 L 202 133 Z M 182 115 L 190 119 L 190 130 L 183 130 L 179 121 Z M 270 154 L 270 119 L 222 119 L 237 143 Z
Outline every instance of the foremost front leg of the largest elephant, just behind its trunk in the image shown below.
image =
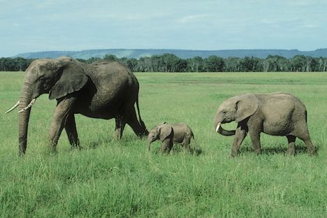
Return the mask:
M 61 135 L 62 129 L 64 129 L 66 119 L 71 115 L 71 110 L 75 98 L 71 97 L 69 99 L 62 99 L 58 101 L 56 110 L 54 110 L 54 115 L 52 117 L 52 122 L 50 125 L 49 140 L 50 140 L 50 150 L 52 152 L 56 151 L 57 143 Z

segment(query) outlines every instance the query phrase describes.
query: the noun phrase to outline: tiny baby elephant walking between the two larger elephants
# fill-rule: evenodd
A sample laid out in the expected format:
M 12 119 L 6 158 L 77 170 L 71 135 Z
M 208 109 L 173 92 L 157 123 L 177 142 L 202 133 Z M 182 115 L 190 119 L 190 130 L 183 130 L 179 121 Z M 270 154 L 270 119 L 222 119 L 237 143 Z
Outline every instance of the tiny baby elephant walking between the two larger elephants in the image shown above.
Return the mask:
M 147 143 L 150 151 L 151 143 L 158 139 L 161 140 L 161 153 L 170 152 L 171 148 L 173 147 L 173 143 L 179 143 L 188 150 L 191 150 L 189 147 L 191 138 L 194 139 L 194 134 L 187 124 L 168 124 L 163 122 L 157 126 L 154 126 L 154 128 L 150 131 L 149 135 L 147 136 Z

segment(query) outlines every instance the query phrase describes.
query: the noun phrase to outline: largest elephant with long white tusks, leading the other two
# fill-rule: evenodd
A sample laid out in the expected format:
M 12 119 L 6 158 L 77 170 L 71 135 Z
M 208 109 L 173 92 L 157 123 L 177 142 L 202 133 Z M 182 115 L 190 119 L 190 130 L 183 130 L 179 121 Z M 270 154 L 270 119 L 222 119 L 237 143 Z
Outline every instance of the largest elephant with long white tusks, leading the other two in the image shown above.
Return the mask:
M 137 136 L 147 136 L 148 131 L 140 117 L 138 106 L 138 80 L 129 68 L 116 61 L 99 61 L 83 64 L 71 57 L 38 59 L 25 72 L 19 107 L 19 152 L 27 148 L 27 130 L 31 106 L 41 94 L 57 99 L 57 107 L 50 125 L 50 149 L 56 150 L 62 129 L 69 143 L 79 147 L 75 114 L 87 117 L 115 118 L 115 135 L 122 137 L 125 124 Z M 134 108 L 136 103 L 138 118 Z

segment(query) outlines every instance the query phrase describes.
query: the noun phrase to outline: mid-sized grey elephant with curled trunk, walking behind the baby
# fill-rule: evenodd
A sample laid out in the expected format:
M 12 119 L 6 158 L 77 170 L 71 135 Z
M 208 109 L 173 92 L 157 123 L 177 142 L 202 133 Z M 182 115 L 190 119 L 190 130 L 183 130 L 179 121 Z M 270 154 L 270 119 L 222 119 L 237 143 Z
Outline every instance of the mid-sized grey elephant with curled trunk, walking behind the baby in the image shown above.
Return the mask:
M 232 121 L 238 123 L 236 131 L 226 131 L 221 127 L 221 124 Z M 238 154 L 247 133 L 251 137 L 254 152 L 260 153 L 261 132 L 272 136 L 286 136 L 289 142 L 288 154 L 295 152 L 296 137 L 305 142 L 310 154 L 316 154 L 307 129 L 305 105 L 291 94 L 244 94 L 227 99 L 216 112 L 214 126 L 224 136 L 235 135 L 231 148 L 232 157 Z

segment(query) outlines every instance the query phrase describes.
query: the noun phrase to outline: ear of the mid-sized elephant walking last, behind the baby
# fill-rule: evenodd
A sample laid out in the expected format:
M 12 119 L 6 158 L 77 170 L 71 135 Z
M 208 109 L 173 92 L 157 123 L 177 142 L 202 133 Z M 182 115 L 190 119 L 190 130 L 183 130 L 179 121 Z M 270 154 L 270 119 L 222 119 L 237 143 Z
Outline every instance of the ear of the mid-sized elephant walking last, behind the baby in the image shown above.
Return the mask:
M 256 112 L 259 106 L 259 101 L 253 94 L 245 94 L 240 96 L 240 99 L 236 101 L 236 113 L 235 122 L 240 122 L 243 119 L 251 116 Z

